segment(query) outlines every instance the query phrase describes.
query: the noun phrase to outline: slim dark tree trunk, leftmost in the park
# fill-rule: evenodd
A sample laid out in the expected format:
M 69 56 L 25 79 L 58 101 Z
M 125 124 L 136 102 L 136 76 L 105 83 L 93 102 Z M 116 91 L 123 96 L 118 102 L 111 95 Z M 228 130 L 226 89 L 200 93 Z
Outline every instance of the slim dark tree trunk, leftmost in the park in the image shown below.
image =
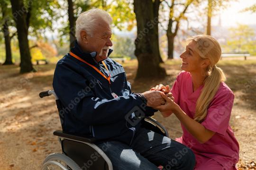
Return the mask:
M 5 16 L 4 11 L 3 16 Z M 8 17 L 7 17 L 8 18 Z M 9 28 L 8 28 L 8 22 L 9 20 L 6 19 L 3 25 L 3 33 L 4 33 L 4 42 L 5 42 L 5 62 L 3 65 L 12 65 L 12 57 L 11 57 L 11 46 L 10 46 L 10 33 L 9 33 Z

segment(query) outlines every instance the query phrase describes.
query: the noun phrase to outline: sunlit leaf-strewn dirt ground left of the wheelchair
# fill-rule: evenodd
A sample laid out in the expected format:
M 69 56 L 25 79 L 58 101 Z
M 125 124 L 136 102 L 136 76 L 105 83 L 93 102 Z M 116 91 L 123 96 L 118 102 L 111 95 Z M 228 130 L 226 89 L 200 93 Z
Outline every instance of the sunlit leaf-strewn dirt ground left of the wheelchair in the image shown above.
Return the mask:
M 61 128 L 55 100 L 38 97 L 40 91 L 52 89 L 50 68 L 39 67 L 39 72 L 24 75 L 9 68 L 0 74 L 1 170 L 39 170 L 49 153 L 61 152 L 52 135 Z

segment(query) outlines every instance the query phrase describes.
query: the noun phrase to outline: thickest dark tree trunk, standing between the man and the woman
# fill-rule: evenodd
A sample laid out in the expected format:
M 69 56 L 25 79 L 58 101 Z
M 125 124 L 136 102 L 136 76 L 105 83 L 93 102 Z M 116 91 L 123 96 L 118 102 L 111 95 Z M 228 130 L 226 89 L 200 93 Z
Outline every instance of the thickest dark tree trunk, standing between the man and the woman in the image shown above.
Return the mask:
M 135 55 L 138 59 L 136 79 L 165 77 L 164 68 L 160 67 L 160 52 L 158 43 L 159 0 L 134 0 L 134 12 L 137 20 L 137 38 L 135 40 Z M 161 56 L 160 56 L 161 57 Z

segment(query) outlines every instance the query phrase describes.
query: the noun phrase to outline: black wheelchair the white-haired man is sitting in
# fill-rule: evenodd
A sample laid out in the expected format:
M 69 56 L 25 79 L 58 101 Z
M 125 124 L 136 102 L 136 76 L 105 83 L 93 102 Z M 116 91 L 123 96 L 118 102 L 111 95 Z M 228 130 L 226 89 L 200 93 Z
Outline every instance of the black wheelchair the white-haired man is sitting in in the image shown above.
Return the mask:
M 64 107 L 58 96 L 53 90 L 39 93 L 41 98 L 50 95 L 55 96 L 63 128 L 64 118 L 60 113 Z M 151 117 L 145 117 L 142 120 L 142 127 L 169 137 L 165 127 Z M 62 153 L 49 154 L 42 163 L 41 170 L 113 170 L 108 156 L 95 144 L 97 142 L 96 138 L 92 136 L 75 136 L 64 133 L 62 130 L 56 130 L 53 134 L 58 136 L 58 141 L 62 146 Z

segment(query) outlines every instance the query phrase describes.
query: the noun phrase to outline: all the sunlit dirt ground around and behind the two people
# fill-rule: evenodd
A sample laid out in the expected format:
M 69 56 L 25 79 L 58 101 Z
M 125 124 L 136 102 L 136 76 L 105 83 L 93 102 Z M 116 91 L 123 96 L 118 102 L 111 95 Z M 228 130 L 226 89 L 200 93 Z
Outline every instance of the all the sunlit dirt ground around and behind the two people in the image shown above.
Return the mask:
M 0 169 L 39 170 L 49 153 L 61 152 L 53 131 L 61 129 L 53 97 L 41 99 L 38 93 L 52 89 L 54 65 L 37 67 L 37 73 L 18 74 L 17 66 L 0 66 Z M 142 92 L 151 86 L 172 84 L 179 73 L 178 65 L 167 65 L 165 80 L 133 84 Z M 126 67 L 133 82 L 135 66 Z M 223 66 L 227 84 L 236 95 L 230 125 L 240 144 L 241 162 L 256 160 L 256 65 Z M 253 80 L 253 81 L 251 81 Z M 155 118 L 168 128 L 172 138 L 182 135 L 174 115 Z

